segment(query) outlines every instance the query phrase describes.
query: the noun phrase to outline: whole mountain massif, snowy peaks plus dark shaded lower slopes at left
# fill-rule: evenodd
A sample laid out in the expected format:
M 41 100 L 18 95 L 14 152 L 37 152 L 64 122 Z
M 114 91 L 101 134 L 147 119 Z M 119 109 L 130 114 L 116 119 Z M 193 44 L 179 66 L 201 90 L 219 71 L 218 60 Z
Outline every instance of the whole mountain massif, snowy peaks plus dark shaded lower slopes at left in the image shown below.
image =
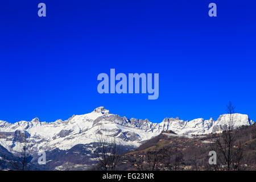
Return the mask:
M 253 125 L 248 115 L 233 114 L 234 127 Z M 220 133 L 227 125 L 227 114 L 217 121 L 212 118 L 183 121 L 179 118 L 164 118 L 160 123 L 148 119 L 127 119 L 110 114 L 104 107 L 97 107 L 92 113 L 73 115 L 66 121 L 32 121 L 8 123 L 0 121 L 0 166 L 11 169 L 10 161 L 18 158 L 23 150 L 21 134 L 28 136 L 32 155 L 32 169 L 43 170 L 84 170 L 97 164 L 97 135 L 102 132 L 120 144 L 121 152 L 135 150 L 141 144 L 160 135 L 163 131 L 173 131 L 177 137 L 193 137 L 210 133 Z M 38 152 L 46 151 L 46 165 L 38 165 Z

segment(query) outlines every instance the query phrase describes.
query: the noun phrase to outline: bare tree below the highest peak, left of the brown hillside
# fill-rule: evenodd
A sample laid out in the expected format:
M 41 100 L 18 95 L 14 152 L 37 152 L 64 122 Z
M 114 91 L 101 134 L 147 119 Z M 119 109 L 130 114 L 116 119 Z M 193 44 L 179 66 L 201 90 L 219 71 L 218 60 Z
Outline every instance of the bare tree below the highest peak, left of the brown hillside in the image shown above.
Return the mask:
M 96 138 L 96 156 L 99 161 L 97 168 L 103 171 L 114 171 L 121 159 L 121 154 L 119 154 L 120 145 L 117 144 L 115 137 L 111 136 L 102 127 Z

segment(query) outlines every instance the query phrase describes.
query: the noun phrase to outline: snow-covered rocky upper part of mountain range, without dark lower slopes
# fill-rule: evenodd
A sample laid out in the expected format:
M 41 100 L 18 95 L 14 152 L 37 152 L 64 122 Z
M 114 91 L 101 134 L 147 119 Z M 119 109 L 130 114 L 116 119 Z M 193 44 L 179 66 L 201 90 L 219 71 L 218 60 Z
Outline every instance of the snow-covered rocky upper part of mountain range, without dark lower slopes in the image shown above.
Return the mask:
M 234 127 L 251 125 L 248 115 L 233 114 Z M 117 143 L 123 146 L 138 147 L 144 141 L 162 133 L 174 131 L 179 135 L 201 135 L 222 131 L 228 124 L 229 115 L 223 114 L 213 121 L 212 118 L 193 119 L 183 121 L 179 118 L 165 118 L 161 123 L 152 123 L 147 119 L 127 119 L 116 114 L 110 114 L 104 107 L 97 107 L 92 113 L 73 115 L 66 121 L 61 119 L 47 123 L 40 122 L 38 118 L 32 121 L 8 123 L 0 121 L 0 145 L 10 152 L 22 150 L 20 133 L 26 132 L 32 151 L 52 151 L 56 148 L 69 150 L 77 144 L 90 144 L 97 142 L 97 135 L 107 133 L 115 137 Z M 93 147 L 91 148 L 93 150 Z

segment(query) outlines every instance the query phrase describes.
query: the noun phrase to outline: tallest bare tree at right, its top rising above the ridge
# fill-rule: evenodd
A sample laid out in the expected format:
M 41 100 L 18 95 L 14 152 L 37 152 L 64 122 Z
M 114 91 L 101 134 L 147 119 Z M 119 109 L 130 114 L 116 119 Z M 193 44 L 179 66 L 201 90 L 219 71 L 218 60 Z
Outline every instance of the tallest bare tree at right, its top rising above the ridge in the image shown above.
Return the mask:
M 218 165 L 221 169 L 237 170 L 242 160 L 242 147 L 237 144 L 237 130 L 234 128 L 234 109 L 232 102 L 226 106 L 228 125 L 220 135 L 215 135 L 212 150 L 216 151 Z M 214 166 L 215 168 L 217 166 Z

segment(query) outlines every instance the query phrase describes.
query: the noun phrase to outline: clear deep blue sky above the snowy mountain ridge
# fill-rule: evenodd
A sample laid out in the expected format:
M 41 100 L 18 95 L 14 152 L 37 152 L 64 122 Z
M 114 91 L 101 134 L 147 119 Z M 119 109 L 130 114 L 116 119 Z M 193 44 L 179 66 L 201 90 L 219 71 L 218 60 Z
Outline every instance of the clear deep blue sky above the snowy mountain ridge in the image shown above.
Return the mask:
M 230 100 L 255 121 L 255 9 L 253 0 L 2 1 L 0 119 L 52 122 L 98 106 L 152 122 L 217 119 Z M 159 73 L 158 100 L 99 94 L 97 75 L 110 68 Z

